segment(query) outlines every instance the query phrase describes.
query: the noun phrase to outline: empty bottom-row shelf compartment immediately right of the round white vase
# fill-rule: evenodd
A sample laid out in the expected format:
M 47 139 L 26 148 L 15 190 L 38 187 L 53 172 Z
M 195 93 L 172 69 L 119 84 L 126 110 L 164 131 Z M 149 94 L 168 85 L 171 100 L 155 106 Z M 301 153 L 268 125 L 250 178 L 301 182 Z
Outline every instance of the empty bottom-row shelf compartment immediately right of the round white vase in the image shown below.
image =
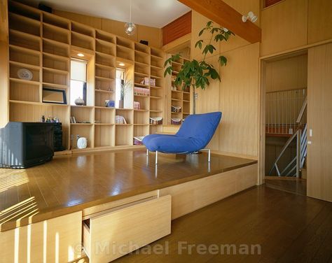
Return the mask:
M 115 125 L 95 126 L 95 147 L 115 146 Z

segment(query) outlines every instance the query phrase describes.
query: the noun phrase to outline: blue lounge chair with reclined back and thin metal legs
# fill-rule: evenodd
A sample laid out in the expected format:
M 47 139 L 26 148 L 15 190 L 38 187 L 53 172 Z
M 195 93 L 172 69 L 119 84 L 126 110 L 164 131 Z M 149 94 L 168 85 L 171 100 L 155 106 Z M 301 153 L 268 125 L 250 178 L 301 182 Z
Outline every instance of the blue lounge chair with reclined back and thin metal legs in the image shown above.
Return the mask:
M 143 143 L 148 151 L 155 152 L 155 164 L 158 164 L 158 152 L 191 154 L 199 150 L 211 151 L 205 146 L 211 141 L 221 120 L 221 112 L 189 115 L 177 134 L 151 134 L 145 136 Z

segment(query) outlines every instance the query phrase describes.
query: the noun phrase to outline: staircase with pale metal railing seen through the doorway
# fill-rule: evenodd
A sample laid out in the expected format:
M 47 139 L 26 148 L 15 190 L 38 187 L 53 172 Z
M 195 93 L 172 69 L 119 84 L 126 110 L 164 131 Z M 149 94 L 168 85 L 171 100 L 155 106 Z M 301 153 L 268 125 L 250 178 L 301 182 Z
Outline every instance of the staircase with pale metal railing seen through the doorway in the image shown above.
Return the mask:
M 303 94 L 305 93 L 303 92 Z M 307 123 L 306 121 L 303 121 L 303 116 L 305 116 L 306 108 L 307 97 L 305 96 L 305 98 L 303 99 L 303 104 L 296 118 L 295 124 L 267 125 L 267 131 L 271 131 L 270 133 L 266 133 L 267 136 L 269 136 L 269 134 L 275 134 L 277 136 L 289 136 L 289 139 L 286 141 L 284 147 L 279 152 L 279 155 L 277 155 L 277 158 L 275 159 L 275 162 L 270 169 L 269 176 L 272 175 L 273 171 L 276 171 L 277 176 L 289 176 L 297 178 L 300 177 L 300 172 L 303 169 L 303 165 L 305 164 L 305 158 L 307 157 Z M 284 155 L 286 149 L 288 149 L 293 142 L 296 143 L 295 157 L 293 157 L 293 159 L 291 159 L 291 161 L 286 164 L 286 166 L 280 167 L 278 165 L 279 160 Z

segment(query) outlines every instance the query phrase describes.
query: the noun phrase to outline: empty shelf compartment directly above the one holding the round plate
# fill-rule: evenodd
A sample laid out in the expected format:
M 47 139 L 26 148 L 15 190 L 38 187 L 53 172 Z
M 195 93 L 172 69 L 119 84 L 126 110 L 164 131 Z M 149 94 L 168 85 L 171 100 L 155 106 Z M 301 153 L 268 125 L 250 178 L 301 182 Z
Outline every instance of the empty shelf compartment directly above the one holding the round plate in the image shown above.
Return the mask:
M 13 45 L 9 47 L 9 60 L 40 66 L 40 53 L 26 48 L 18 48 Z

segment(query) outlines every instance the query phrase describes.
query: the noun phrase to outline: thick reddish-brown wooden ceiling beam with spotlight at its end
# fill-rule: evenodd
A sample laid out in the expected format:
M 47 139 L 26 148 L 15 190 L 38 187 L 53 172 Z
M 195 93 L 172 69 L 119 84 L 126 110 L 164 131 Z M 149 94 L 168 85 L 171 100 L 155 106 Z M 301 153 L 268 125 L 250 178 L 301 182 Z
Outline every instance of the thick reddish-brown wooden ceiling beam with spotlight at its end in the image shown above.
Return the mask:
M 220 24 L 222 27 L 230 29 L 235 35 L 244 38 L 250 43 L 261 42 L 261 29 L 249 20 L 242 22 L 242 14 L 228 6 L 228 4 L 222 0 L 178 1 Z

